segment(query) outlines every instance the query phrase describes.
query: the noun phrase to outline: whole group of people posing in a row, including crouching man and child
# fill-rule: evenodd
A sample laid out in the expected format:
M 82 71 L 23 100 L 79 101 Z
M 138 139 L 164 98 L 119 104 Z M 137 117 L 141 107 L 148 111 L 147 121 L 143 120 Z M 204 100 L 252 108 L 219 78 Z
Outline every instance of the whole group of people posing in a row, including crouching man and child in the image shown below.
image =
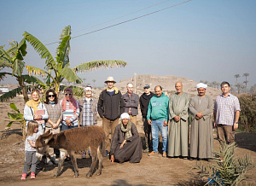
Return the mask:
M 58 133 L 78 126 L 97 124 L 97 113 L 102 118 L 105 131 L 106 154 L 111 162 L 138 163 L 143 152 L 149 156 L 159 154 L 159 132 L 161 133 L 163 157 L 211 159 L 213 153 L 212 110 L 214 125 L 218 128 L 221 142 L 234 142 L 234 130 L 238 127 L 240 105 L 236 96 L 230 94 L 230 84 L 223 82 L 223 94 L 216 98 L 206 95 L 207 84 L 197 84 L 197 96 L 189 97 L 183 92 L 183 84 L 175 84 L 176 93 L 165 96 L 160 85 L 143 86 L 144 93 L 138 96 L 133 92 L 133 84 L 128 83 L 127 92 L 122 95 L 113 77 L 108 77 L 108 85 L 98 101 L 92 97 L 92 87 L 86 86 L 85 96 L 79 101 L 73 98 L 73 90 L 64 90 L 65 97 L 58 102 L 54 90 L 46 92 L 46 102 L 40 102 L 39 91 L 32 90 L 32 99 L 26 102 L 24 119 L 26 119 L 26 162 L 21 179 L 31 166 L 31 178 L 35 178 L 36 158 L 35 141 L 44 131 Z M 143 146 L 137 132 L 137 114 L 140 106 L 143 115 L 143 129 L 146 147 Z M 191 115 L 189 148 L 189 113 Z M 120 123 L 119 123 L 120 119 Z M 169 125 L 169 126 L 168 126 Z M 168 130 L 169 127 L 169 130 Z M 85 152 L 84 152 L 85 153 Z M 89 153 L 89 152 L 88 152 Z M 68 157 L 67 157 L 68 158 Z M 54 149 L 49 152 L 47 163 L 56 163 Z

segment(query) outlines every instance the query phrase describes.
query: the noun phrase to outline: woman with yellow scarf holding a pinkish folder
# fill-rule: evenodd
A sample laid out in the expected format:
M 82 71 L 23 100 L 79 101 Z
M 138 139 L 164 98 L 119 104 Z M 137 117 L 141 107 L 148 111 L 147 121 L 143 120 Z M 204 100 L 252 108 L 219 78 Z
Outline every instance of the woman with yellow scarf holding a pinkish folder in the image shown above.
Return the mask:
M 40 102 L 39 90 L 32 90 L 32 99 L 26 102 L 24 108 L 24 119 L 26 125 L 29 121 L 35 120 L 38 122 L 38 131 L 44 133 L 45 123 L 44 119 L 48 119 L 49 115 L 42 102 Z

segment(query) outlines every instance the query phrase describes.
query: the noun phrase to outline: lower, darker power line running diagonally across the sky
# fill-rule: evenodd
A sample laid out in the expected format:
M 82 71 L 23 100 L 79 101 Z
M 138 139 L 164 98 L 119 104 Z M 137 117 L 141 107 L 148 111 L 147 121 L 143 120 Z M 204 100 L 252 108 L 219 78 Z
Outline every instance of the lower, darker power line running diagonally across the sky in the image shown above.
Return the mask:
M 131 19 L 131 20 L 137 20 L 137 19 L 146 17 L 146 16 L 148 16 L 148 15 L 153 15 L 153 14 L 158 13 L 158 12 L 160 12 L 160 11 L 163 11 L 163 10 L 166 10 L 166 9 L 171 9 L 172 7 L 176 7 L 176 6 L 178 6 L 178 5 L 181 5 L 181 4 L 183 4 L 183 3 L 188 3 L 188 2 L 190 2 L 190 1 L 191 1 L 191 0 L 184 1 L 184 2 L 182 2 L 182 3 L 177 3 L 177 4 L 174 4 L 174 5 L 172 5 L 172 6 L 166 7 L 166 8 L 164 8 L 164 9 L 159 9 L 159 10 L 156 10 L 156 11 L 154 11 L 154 12 L 148 13 L 148 14 L 146 14 L 146 15 L 138 16 L 138 17 L 133 18 L 133 19 Z M 88 35 L 88 34 L 90 34 L 90 33 L 99 32 L 99 31 L 108 29 L 108 28 L 113 27 L 113 26 L 119 26 L 119 25 L 124 24 L 124 23 L 126 23 L 126 22 L 130 22 L 131 20 L 125 20 L 125 21 L 123 21 L 123 22 L 119 22 L 119 23 L 114 24 L 114 25 L 112 25 L 112 26 L 106 26 L 106 27 L 97 29 L 97 30 L 95 30 L 95 31 L 91 31 L 91 32 L 87 32 L 87 33 L 84 33 L 84 34 L 80 34 L 80 35 L 78 35 L 78 36 L 71 37 L 71 38 L 79 38 L 79 37 L 81 37 L 81 36 L 85 36 L 85 35 Z M 50 43 L 50 44 L 56 44 L 56 43 L 58 43 L 58 41 L 57 41 L 57 42 Z M 50 45 L 50 44 L 45 44 L 45 45 Z

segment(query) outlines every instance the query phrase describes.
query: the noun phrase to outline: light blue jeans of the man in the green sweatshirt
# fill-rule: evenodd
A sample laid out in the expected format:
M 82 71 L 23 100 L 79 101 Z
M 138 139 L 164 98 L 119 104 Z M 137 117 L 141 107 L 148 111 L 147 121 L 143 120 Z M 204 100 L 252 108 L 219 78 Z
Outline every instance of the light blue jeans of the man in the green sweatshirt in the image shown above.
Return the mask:
M 153 141 L 153 151 L 158 152 L 158 142 L 159 142 L 159 131 L 163 139 L 163 153 L 167 151 L 167 131 L 168 126 L 164 126 L 165 119 L 152 120 L 151 132 Z

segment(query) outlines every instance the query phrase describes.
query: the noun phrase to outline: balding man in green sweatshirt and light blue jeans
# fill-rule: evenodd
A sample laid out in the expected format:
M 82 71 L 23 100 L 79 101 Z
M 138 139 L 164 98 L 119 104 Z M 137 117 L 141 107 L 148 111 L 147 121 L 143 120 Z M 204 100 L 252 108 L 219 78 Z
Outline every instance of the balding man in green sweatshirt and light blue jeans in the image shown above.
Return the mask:
M 154 87 L 155 96 L 150 99 L 148 105 L 148 125 L 151 125 L 153 151 L 148 156 L 158 155 L 159 131 L 163 140 L 163 157 L 166 158 L 167 131 L 169 120 L 169 98 L 162 92 L 162 87 Z

